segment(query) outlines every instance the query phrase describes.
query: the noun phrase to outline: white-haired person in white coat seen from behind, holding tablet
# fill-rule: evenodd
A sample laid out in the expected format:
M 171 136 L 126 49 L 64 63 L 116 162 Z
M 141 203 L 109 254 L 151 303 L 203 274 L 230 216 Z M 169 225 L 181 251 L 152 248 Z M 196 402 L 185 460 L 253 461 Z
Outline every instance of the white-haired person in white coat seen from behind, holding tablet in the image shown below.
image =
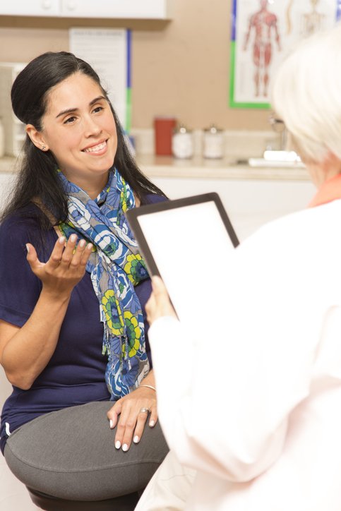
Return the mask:
M 339 25 L 294 49 L 273 83 L 316 196 L 234 251 L 206 339 L 184 335 L 154 279 L 147 313 L 170 453 L 136 511 L 341 509 L 340 91 Z M 184 346 L 177 385 L 169 359 Z

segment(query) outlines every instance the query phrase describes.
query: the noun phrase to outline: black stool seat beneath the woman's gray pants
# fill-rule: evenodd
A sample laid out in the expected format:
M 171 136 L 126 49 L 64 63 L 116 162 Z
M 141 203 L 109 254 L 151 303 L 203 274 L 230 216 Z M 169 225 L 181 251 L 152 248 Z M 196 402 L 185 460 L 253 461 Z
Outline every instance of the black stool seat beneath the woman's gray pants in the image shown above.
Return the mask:
M 32 488 L 28 488 L 28 493 L 32 502 L 45 511 L 133 511 L 140 498 L 138 492 L 95 501 L 56 498 Z

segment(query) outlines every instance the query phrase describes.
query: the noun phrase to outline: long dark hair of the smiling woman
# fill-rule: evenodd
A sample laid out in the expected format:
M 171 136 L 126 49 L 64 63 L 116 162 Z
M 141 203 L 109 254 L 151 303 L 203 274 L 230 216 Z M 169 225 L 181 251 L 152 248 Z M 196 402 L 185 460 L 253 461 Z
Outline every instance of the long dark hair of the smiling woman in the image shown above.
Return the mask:
M 73 73 L 83 73 L 92 78 L 100 86 L 104 97 L 109 102 L 99 76 L 87 62 L 68 52 L 47 52 L 30 61 L 14 80 L 11 90 L 14 114 L 24 124 L 32 124 L 38 131 L 41 131 L 42 117 L 47 109 L 50 90 Z M 133 188 L 141 204 L 145 203 L 145 195 L 148 193 L 158 193 L 164 196 L 164 193 L 138 169 L 127 148 L 119 119 L 112 104 L 110 102 L 109 104 L 117 131 L 114 167 Z M 57 178 L 56 169 L 57 163 L 52 152 L 38 149 L 26 135 L 16 186 L 2 218 L 13 213 L 20 215 L 20 212 L 25 215 L 25 210 L 30 209 L 28 208 L 30 203 L 39 200 L 54 217 L 55 224 L 66 220 L 67 197 L 61 186 L 61 181 Z M 37 218 L 42 229 L 51 227 L 51 221 L 44 215 L 41 208 L 37 208 Z

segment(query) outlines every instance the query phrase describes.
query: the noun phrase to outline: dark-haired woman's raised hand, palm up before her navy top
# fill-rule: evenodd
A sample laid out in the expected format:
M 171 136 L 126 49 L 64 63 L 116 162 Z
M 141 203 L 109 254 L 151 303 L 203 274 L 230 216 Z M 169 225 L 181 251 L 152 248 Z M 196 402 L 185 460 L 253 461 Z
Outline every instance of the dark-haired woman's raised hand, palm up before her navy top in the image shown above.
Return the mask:
M 76 243 L 76 234 L 71 234 L 66 244 L 65 237 L 60 236 L 47 263 L 38 259 L 33 245 L 26 245 L 27 260 L 32 272 L 42 281 L 43 289 L 56 297 L 68 297 L 85 274 L 92 244 L 87 245 L 83 239 L 77 246 Z

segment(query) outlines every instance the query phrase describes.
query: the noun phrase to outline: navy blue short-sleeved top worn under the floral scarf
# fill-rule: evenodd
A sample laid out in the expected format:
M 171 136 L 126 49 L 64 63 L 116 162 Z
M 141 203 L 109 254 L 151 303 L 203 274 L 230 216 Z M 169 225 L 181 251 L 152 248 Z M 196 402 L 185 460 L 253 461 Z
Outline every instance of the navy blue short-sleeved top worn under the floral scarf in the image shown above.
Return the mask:
M 164 200 L 148 195 L 148 203 Z M 34 214 L 24 218 L 13 216 L 0 226 L 0 319 L 22 327 L 30 317 L 40 296 L 42 283 L 26 260 L 26 243 L 40 235 Z M 38 258 L 46 261 L 57 240 L 54 229 L 44 239 L 44 253 L 37 248 Z M 32 243 L 36 246 L 35 243 Z M 146 351 L 150 360 L 148 323 L 145 303 L 151 292 L 150 279 L 136 286 L 145 320 Z M 74 287 L 66 315 L 61 324 L 58 344 L 49 363 L 29 390 L 13 386 L 1 414 L 0 448 L 4 452 L 8 431 L 47 414 L 76 404 L 106 401 L 110 398 L 104 381 L 107 356 L 102 356 L 103 324 L 100 307 L 92 287 L 90 274 Z

